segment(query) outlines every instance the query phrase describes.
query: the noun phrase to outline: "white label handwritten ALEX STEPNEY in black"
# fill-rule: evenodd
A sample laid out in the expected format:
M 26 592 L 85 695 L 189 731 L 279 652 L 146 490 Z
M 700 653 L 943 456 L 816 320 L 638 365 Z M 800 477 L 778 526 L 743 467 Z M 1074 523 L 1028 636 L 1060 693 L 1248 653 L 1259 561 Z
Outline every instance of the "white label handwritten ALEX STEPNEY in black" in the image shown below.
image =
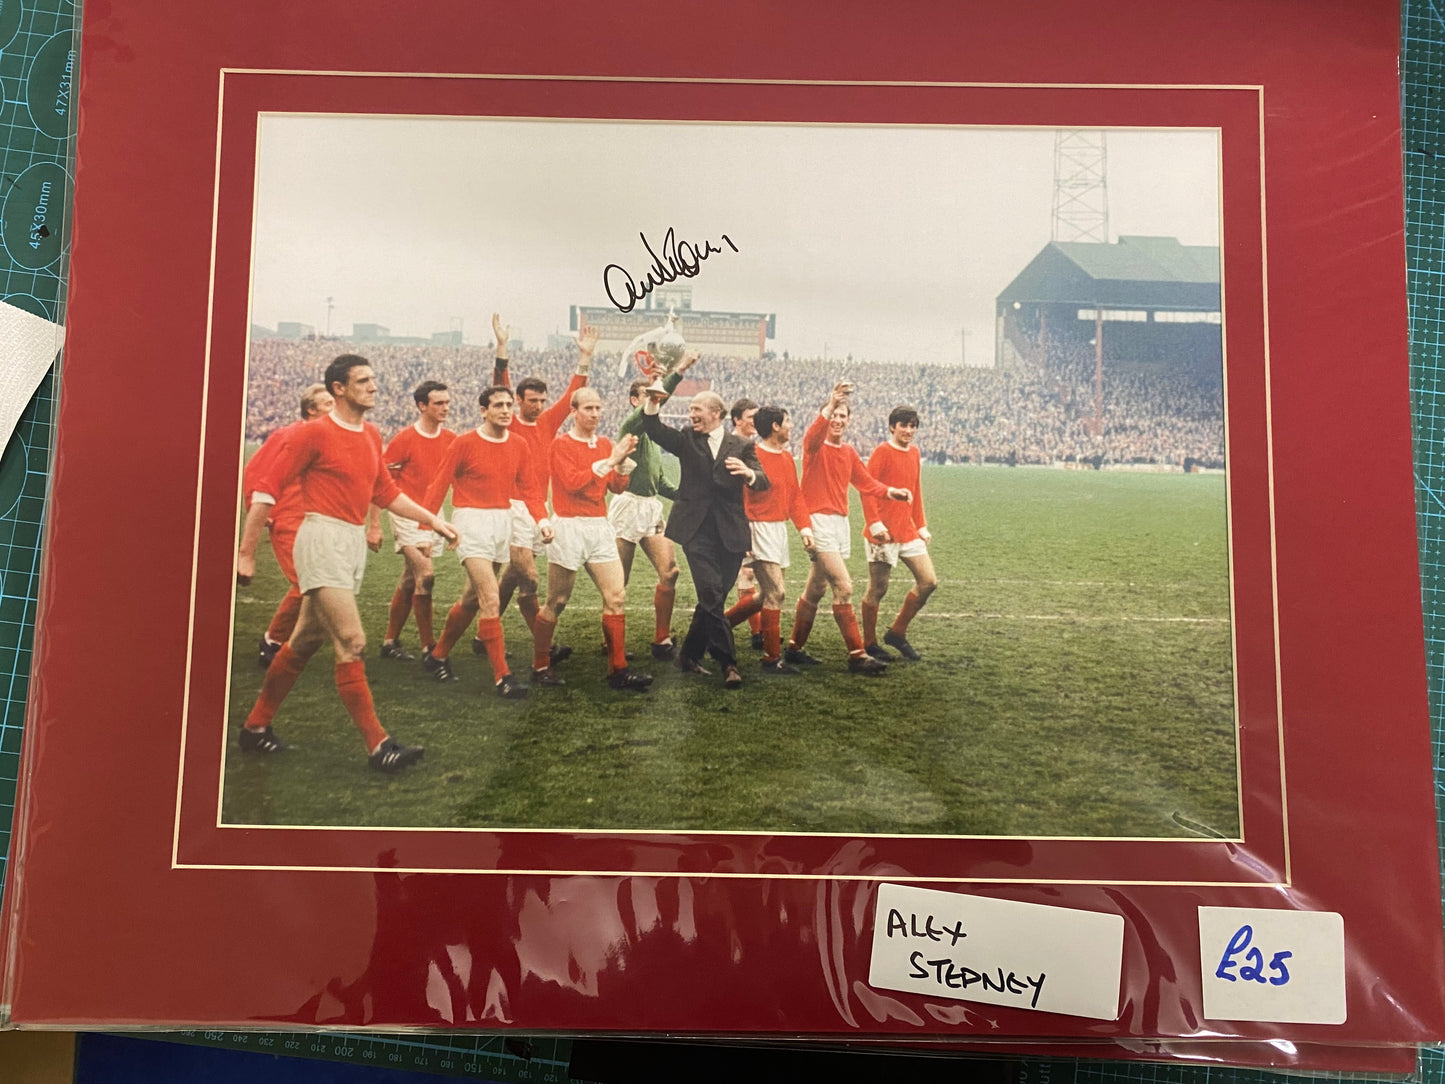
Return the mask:
M 868 981 L 1113 1020 L 1123 954 L 1120 915 L 880 885 Z

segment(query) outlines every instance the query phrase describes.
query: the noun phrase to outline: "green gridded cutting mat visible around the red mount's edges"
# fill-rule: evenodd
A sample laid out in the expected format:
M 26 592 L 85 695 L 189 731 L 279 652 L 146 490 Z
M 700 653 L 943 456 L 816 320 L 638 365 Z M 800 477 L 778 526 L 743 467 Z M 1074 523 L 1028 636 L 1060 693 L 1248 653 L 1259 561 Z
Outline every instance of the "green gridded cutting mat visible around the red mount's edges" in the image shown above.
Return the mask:
M 1436 798 L 1445 792 L 1445 0 L 1405 0 L 1406 228 L 1410 275 L 1416 483 Z M 26 244 L 38 181 L 72 169 L 74 117 L 65 64 L 78 14 L 71 0 L 0 0 L 0 298 L 64 322 L 64 204 L 49 205 L 49 236 Z M 58 93 L 59 88 L 59 93 Z M 0 885 L 14 815 L 20 733 L 29 687 L 39 539 L 45 512 L 53 399 L 46 377 L 0 457 Z M 1445 805 L 1445 804 L 1442 804 Z M 159 1038 L 159 1036 L 158 1036 Z M 483 1035 L 285 1035 L 184 1032 L 181 1042 L 275 1055 L 328 1058 L 504 1081 L 565 1083 L 565 1039 Z M 959 1067 L 961 1072 L 967 1072 Z M 1253 1084 L 1266 1074 L 1181 1065 L 1033 1062 L 1020 1080 L 1052 1084 Z M 1338 1080 L 1338 1077 L 1331 1077 Z M 1419 1078 L 1445 1084 L 1445 1052 L 1425 1051 Z

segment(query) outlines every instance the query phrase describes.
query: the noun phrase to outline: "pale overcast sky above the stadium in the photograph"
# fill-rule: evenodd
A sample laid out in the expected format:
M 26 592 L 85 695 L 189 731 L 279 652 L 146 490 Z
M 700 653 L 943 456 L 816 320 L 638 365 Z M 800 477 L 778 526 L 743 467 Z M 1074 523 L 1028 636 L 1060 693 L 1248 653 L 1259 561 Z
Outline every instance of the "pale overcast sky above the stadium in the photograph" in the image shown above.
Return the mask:
M 722 249 L 694 308 L 777 314 L 777 351 L 987 363 L 1052 188 L 1052 129 L 267 116 L 251 318 L 324 331 L 331 296 L 337 334 L 487 343 L 500 311 L 540 347 L 673 227 Z M 1217 134 L 1108 132 L 1108 211 L 1110 240 L 1218 244 Z

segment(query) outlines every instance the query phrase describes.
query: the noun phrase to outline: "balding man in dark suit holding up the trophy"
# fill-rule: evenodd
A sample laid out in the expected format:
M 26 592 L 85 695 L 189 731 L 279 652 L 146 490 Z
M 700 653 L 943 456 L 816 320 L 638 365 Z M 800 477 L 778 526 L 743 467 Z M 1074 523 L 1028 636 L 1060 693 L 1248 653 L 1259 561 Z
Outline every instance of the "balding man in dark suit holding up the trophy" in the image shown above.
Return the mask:
M 678 457 L 682 477 L 678 496 L 668 516 L 666 535 L 688 558 L 698 606 L 692 624 L 678 652 L 678 669 L 708 674 L 702 656 L 711 653 L 722 666 L 722 684 L 736 689 L 743 684 L 733 646 L 733 626 L 724 617 L 727 594 L 737 580 L 753 536 L 743 512 L 743 487 L 766 490 L 753 442 L 724 432 L 722 399 L 701 392 L 688 405 L 689 429 L 673 429 L 657 416 L 660 393 L 650 393 L 643 406 L 643 432 L 659 448 Z

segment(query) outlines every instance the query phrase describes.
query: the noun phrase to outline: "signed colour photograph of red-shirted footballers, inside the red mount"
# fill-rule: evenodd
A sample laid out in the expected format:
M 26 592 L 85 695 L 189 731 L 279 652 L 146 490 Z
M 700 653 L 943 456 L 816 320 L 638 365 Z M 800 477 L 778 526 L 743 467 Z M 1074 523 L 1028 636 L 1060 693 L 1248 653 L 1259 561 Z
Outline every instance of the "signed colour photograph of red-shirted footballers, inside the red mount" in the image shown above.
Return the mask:
M 221 825 L 1241 837 L 1220 130 L 256 139 Z

